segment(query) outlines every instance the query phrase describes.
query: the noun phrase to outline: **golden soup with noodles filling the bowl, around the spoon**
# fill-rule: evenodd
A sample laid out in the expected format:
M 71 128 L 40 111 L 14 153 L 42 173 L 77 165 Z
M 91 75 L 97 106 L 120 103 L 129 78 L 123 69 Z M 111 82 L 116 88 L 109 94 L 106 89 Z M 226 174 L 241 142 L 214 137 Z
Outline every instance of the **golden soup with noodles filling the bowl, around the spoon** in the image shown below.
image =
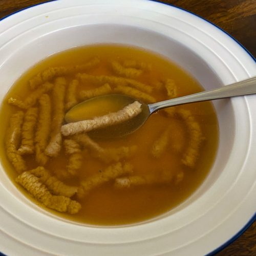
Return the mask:
M 180 67 L 143 49 L 93 45 L 57 53 L 20 77 L 2 104 L 2 164 L 24 195 L 62 218 L 121 225 L 157 217 L 188 198 L 214 162 L 211 102 L 158 111 L 120 138 L 63 134 L 64 116 L 99 95 L 153 103 L 200 91 Z

